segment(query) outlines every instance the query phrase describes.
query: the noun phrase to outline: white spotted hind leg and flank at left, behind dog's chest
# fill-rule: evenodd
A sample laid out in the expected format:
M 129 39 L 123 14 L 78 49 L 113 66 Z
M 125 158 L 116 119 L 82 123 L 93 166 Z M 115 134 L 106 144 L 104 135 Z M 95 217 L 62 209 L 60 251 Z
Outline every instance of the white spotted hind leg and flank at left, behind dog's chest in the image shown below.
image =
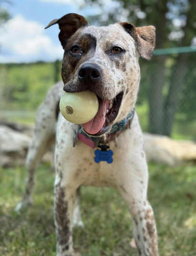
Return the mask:
M 15 208 L 16 212 L 19 212 L 21 207 L 31 204 L 36 169 L 43 154 L 55 143 L 58 102 L 61 94 L 62 84 L 57 83 L 49 90 L 44 102 L 37 111 L 33 139 L 27 155 L 28 180 L 21 202 Z

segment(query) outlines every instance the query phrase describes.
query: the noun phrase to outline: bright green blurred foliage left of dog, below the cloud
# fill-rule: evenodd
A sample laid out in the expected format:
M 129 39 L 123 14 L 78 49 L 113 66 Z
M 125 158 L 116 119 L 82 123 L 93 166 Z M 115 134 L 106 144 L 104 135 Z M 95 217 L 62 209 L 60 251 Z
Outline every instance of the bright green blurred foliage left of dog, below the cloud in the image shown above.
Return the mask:
M 56 81 L 56 62 L 0 65 L 0 81 L 1 108 L 36 110 Z

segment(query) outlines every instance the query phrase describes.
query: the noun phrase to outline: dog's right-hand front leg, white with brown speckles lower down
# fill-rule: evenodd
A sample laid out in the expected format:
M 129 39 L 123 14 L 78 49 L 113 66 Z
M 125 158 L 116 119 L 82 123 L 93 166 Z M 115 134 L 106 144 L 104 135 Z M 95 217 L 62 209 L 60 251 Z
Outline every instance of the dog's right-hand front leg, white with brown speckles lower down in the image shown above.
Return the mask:
M 158 256 L 156 224 L 151 205 L 147 201 L 147 166 L 127 170 L 119 185 L 132 216 L 133 236 L 140 256 Z M 126 179 L 125 179 L 126 178 Z

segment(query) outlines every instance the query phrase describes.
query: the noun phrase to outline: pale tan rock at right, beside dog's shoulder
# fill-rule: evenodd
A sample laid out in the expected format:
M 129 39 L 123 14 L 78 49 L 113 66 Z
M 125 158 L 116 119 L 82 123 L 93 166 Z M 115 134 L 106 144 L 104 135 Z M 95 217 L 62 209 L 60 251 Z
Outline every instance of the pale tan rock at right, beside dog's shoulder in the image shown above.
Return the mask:
M 174 166 L 184 161 L 196 161 L 196 143 L 189 140 L 144 133 L 144 145 L 148 162 Z

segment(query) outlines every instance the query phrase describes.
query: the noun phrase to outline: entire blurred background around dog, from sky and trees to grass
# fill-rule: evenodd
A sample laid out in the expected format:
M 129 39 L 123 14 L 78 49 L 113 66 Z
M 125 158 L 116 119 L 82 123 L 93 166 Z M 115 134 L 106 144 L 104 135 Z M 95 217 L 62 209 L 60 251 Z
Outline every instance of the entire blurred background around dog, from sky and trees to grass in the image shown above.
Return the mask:
M 96 26 L 156 27 L 152 59 L 140 58 L 136 105 L 147 132 L 148 198 L 160 256 L 195 256 L 196 0 L 0 0 L 0 255 L 56 256 L 51 152 L 38 169 L 34 205 L 21 215 L 14 206 L 24 191 L 36 110 L 61 80 L 59 29 L 44 28 L 68 13 Z M 84 188 L 81 197 L 85 229 L 74 233 L 77 256 L 136 256 L 118 193 Z

